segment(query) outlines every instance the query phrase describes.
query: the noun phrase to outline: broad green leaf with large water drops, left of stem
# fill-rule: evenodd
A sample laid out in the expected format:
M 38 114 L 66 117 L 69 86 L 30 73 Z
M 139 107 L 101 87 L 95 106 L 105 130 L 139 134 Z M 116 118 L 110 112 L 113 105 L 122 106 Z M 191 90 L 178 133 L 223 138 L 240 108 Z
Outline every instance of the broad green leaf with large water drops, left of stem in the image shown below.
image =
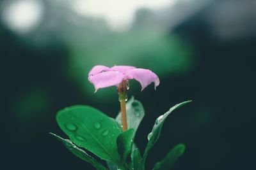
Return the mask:
M 56 116 L 61 130 L 77 146 L 104 160 L 118 164 L 116 138 L 122 132 L 120 125 L 90 106 L 71 106 L 58 111 Z

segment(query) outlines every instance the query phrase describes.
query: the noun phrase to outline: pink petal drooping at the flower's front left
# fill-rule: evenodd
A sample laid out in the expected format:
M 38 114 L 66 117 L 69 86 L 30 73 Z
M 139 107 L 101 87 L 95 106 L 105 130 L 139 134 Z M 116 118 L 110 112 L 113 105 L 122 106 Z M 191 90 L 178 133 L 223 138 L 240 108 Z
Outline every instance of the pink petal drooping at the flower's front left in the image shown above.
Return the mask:
M 118 85 L 124 79 L 124 74 L 118 71 L 106 71 L 90 76 L 88 79 L 93 83 L 95 92 L 97 92 L 98 89 Z

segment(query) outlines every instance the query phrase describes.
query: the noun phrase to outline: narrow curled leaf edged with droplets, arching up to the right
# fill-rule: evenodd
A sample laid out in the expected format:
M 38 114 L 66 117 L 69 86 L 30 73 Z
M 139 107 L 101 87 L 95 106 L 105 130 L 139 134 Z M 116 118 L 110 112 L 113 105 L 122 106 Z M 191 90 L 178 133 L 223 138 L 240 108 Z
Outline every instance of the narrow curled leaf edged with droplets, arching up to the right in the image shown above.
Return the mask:
M 164 120 L 170 115 L 170 113 L 172 113 L 173 110 L 180 108 L 181 106 L 184 106 L 185 104 L 188 104 L 190 102 L 191 101 L 184 101 L 183 103 L 176 104 L 175 106 L 170 108 L 169 111 L 164 113 L 164 115 L 161 115 L 156 119 L 152 132 L 148 134 L 148 144 L 143 155 L 143 164 L 145 164 L 145 160 L 147 159 L 149 150 L 152 148 L 152 146 L 154 146 L 154 144 L 156 143 L 157 139 L 161 134 L 161 129 L 163 127 Z

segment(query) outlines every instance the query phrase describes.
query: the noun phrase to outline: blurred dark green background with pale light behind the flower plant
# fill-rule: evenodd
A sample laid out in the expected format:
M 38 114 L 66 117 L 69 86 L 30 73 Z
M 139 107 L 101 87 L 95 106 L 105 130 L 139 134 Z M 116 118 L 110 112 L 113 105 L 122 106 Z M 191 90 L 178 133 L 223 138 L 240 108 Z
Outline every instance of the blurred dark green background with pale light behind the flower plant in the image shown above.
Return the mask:
M 157 90 L 143 103 L 141 152 L 159 115 L 169 117 L 146 169 L 177 143 L 187 148 L 173 169 L 256 169 L 254 0 L 1 0 L 1 169 L 93 169 L 49 136 L 67 138 L 55 116 L 74 104 L 110 117 L 115 87 L 93 93 L 88 71 L 131 65 L 154 71 Z

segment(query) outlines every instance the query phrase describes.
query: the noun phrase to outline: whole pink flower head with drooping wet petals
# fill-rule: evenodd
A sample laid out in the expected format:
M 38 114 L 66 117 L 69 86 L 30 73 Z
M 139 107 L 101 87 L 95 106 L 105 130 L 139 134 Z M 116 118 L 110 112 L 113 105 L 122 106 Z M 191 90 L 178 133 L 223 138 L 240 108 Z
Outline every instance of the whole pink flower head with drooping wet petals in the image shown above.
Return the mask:
M 150 83 L 159 85 L 158 76 L 149 69 L 140 69 L 133 66 L 94 66 L 88 74 L 88 80 L 93 83 L 95 92 L 98 89 L 118 86 L 122 81 L 135 79 L 141 84 L 141 91 Z

